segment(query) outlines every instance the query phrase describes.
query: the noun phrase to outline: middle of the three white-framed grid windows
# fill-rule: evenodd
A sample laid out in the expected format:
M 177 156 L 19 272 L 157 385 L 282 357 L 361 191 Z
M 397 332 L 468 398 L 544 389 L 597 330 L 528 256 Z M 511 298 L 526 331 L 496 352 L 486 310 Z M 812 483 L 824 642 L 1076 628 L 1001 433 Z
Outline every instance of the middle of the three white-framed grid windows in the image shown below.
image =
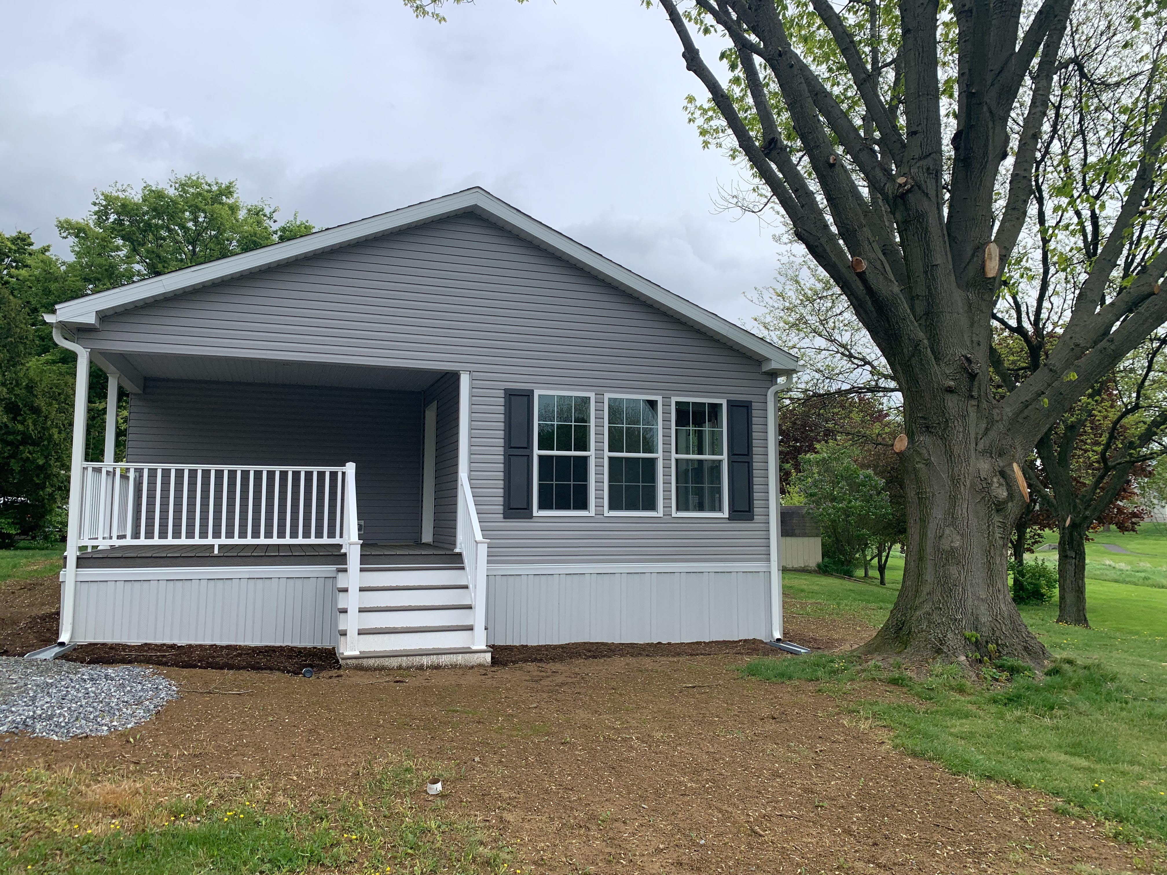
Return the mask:
M 608 397 L 608 513 L 661 512 L 661 400 Z

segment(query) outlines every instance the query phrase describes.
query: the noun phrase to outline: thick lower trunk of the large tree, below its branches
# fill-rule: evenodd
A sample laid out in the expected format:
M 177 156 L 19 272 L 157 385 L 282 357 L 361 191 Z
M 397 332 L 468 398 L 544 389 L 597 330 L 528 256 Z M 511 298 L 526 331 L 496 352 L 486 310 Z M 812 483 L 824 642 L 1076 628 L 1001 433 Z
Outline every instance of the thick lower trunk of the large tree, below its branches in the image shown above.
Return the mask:
M 909 408 L 909 435 L 911 419 Z M 964 422 L 934 419 L 924 426 L 931 433 L 917 432 L 903 454 L 903 586 L 860 652 L 911 660 L 1008 656 L 1035 666 L 1048 657 L 1009 597 L 1006 560 L 1023 498 L 1006 480 L 1012 462 L 976 448 L 974 419 L 971 411 Z

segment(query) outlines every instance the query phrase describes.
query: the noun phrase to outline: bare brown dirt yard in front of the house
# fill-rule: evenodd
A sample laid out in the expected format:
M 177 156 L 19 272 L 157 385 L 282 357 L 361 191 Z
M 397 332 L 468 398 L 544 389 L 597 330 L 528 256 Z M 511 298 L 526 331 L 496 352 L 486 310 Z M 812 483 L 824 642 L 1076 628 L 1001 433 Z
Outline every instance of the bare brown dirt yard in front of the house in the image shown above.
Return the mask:
M 820 648 L 871 631 L 798 622 L 790 637 Z M 897 752 L 816 685 L 740 678 L 733 667 L 757 646 L 527 654 L 544 662 L 501 649 L 508 664 L 489 668 L 310 680 L 166 667 L 183 693 L 158 718 L 70 742 L 0 736 L 0 771 L 77 765 L 168 793 L 257 780 L 309 804 L 356 791 L 362 766 L 408 750 L 453 766 L 445 805 L 517 848 L 523 873 L 1135 868 L 1128 845 L 1049 798 Z M 557 660 L 580 656 L 594 658 Z

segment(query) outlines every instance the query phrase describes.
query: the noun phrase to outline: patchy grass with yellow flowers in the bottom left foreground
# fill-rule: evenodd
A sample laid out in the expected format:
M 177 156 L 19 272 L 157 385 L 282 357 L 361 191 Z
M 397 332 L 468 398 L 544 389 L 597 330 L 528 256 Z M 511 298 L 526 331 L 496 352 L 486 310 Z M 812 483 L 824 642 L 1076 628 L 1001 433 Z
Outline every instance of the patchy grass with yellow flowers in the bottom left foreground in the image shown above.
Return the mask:
M 366 766 L 359 796 L 307 808 L 260 783 L 169 792 L 76 769 L 0 774 L 0 866 L 9 873 L 501 873 L 509 849 L 452 817 L 407 757 Z M 418 802 L 418 800 L 421 802 Z

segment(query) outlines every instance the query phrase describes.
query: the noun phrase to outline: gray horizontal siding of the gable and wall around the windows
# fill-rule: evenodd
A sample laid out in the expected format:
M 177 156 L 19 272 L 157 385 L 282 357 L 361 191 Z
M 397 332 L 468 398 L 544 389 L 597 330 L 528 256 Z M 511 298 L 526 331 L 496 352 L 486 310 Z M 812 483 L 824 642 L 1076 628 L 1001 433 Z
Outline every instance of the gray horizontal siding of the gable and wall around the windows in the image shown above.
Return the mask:
M 764 401 L 771 380 L 759 363 L 477 216 L 106 316 L 83 341 L 131 355 L 470 371 L 470 480 L 491 565 L 763 561 L 768 554 Z M 755 519 L 668 516 L 668 430 L 665 516 L 605 517 L 598 416 L 596 514 L 504 522 L 502 398 L 509 387 L 595 392 L 598 408 L 605 393 L 663 396 L 666 414 L 673 396 L 753 401 Z

